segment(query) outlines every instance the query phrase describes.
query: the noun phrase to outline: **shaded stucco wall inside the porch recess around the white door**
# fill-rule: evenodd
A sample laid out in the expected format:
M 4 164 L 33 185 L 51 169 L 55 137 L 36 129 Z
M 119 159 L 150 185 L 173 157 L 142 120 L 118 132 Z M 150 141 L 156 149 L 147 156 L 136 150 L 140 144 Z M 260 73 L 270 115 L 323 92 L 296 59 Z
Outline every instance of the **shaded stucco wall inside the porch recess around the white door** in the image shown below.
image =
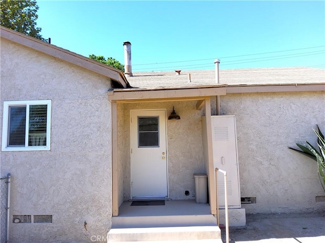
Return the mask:
M 171 199 L 194 199 L 195 184 L 193 173 L 204 173 L 201 116 L 196 101 L 124 104 L 124 131 L 121 139 L 126 142 L 124 161 L 124 200 L 131 198 L 130 161 L 130 110 L 166 109 L 167 117 L 173 105 L 180 120 L 167 119 L 168 184 Z M 122 138 L 123 137 L 123 138 Z M 189 195 L 185 195 L 185 190 Z

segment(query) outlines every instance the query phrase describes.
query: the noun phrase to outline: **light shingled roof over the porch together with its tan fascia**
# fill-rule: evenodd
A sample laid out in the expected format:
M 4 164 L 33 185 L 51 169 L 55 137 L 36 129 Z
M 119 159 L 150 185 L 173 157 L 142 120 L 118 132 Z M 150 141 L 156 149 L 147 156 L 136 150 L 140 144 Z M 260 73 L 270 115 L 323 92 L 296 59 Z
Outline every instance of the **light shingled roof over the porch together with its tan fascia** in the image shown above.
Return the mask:
M 190 75 L 189 75 L 190 74 Z M 191 82 L 189 82 L 189 77 Z M 130 89 L 109 92 L 111 101 L 203 99 L 230 93 L 325 91 L 325 69 L 308 67 L 133 73 Z

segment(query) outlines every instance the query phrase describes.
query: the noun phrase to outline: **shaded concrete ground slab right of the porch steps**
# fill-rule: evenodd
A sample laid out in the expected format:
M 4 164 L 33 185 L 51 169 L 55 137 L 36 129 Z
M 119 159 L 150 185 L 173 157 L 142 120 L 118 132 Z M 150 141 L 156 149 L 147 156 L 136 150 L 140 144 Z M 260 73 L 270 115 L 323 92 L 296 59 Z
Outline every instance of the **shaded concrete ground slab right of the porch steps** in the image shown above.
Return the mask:
M 323 214 L 247 214 L 245 227 L 230 227 L 231 243 L 324 243 Z M 225 242 L 225 229 L 221 228 Z

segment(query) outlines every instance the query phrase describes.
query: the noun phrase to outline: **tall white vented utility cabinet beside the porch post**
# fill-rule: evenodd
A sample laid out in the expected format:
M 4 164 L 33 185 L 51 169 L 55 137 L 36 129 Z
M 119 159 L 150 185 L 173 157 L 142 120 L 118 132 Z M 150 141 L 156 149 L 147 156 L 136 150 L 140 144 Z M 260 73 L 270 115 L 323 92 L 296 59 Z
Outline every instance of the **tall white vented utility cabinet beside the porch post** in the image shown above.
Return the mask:
M 241 208 L 238 152 L 236 137 L 235 115 L 213 115 L 211 116 L 212 147 L 213 147 L 213 169 L 218 168 L 227 173 L 227 190 L 229 208 Z M 207 161 L 207 139 L 206 117 L 202 117 L 203 145 L 205 147 L 205 159 Z M 215 181 L 215 180 L 214 180 Z M 219 208 L 224 208 L 224 176 L 218 174 L 218 200 Z

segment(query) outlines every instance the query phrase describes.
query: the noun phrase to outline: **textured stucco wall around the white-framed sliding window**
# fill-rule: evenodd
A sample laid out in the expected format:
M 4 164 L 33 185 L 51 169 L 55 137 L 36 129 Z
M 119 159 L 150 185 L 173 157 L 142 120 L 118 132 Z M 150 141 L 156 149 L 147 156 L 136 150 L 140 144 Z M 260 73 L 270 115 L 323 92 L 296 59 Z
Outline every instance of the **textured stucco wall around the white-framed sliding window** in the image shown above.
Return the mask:
M 91 242 L 91 235 L 106 235 L 110 80 L 1 41 L 0 126 L 4 101 L 52 100 L 51 150 L 1 152 L 1 173 L 12 174 L 10 215 L 53 215 L 53 222 L 14 224 L 11 216 L 11 242 Z

